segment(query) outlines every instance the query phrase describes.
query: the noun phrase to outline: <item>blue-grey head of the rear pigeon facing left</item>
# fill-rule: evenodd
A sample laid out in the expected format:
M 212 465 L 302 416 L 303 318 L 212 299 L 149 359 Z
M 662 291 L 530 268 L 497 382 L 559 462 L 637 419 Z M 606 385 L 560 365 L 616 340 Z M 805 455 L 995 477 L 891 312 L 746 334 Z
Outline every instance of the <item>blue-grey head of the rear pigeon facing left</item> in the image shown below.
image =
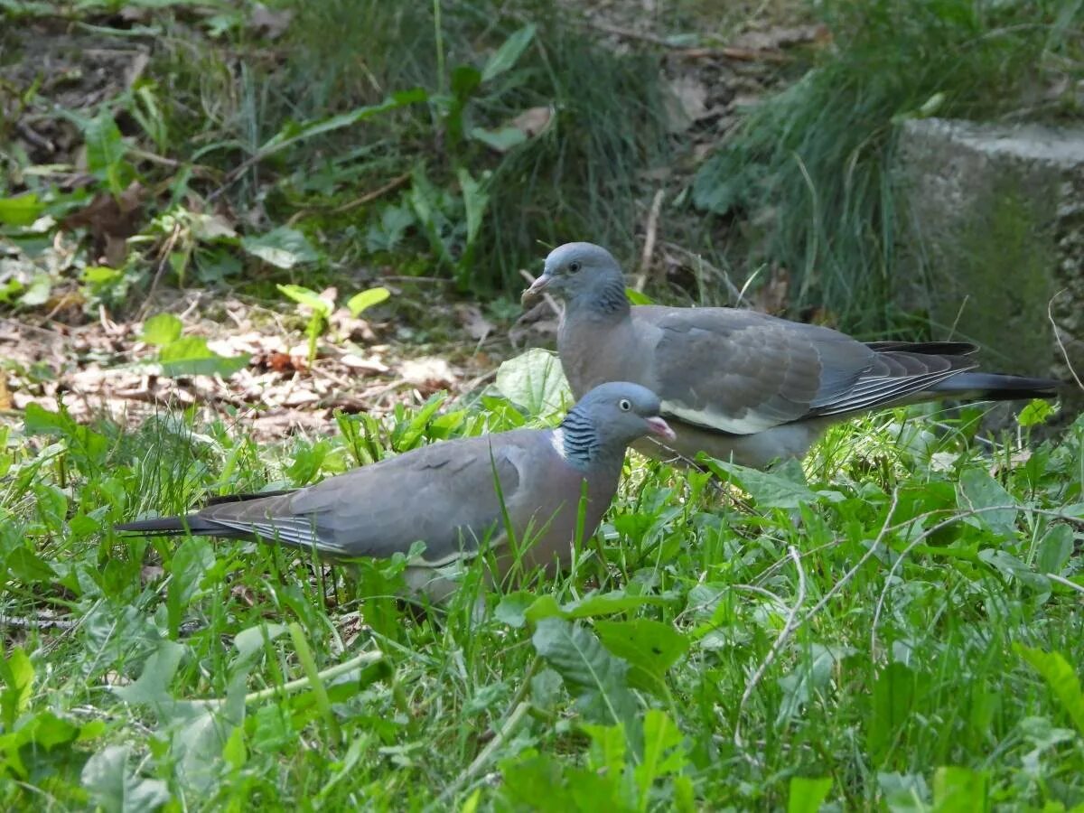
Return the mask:
M 614 255 L 593 243 L 566 243 L 545 258 L 542 275 L 524 292 L 524 305 L 542 293 L 565 300 L 569 308 L 610 313 L 629 309 L 624 279 Z

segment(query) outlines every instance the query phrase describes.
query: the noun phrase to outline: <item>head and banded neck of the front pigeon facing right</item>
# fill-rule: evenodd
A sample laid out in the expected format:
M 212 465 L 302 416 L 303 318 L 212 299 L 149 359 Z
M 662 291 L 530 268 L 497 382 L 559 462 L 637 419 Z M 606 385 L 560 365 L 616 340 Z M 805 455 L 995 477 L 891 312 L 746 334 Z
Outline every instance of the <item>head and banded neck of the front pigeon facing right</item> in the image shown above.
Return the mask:
M 565 456 L 590 463 L 598 456 L 624 455 L 625 447 L 646 435 L 674 439 L 659 415 L 658 396 L 629 382 L 610 382 L 589 391 L 560 425 Z

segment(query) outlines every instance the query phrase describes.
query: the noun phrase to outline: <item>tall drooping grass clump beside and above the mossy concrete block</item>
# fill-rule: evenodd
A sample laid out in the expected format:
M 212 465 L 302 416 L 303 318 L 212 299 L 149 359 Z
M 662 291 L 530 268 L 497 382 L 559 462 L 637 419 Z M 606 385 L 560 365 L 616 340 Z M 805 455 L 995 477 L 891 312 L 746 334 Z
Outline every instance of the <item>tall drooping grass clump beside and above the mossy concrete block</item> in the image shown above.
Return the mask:
M 1049 100 L 1055 79 L 1084 76 L 1084 3 L 828 0 L 821 11 L 833 48 L 749 114 L 701 167 L 694 201 L 762 224 L 760 259 L 790 272 L 796 310 L 823 306 L 852 331 L 883 333 L 899 322 L 888 304 L 898 125 L 1079 115 L 1075 98 Z

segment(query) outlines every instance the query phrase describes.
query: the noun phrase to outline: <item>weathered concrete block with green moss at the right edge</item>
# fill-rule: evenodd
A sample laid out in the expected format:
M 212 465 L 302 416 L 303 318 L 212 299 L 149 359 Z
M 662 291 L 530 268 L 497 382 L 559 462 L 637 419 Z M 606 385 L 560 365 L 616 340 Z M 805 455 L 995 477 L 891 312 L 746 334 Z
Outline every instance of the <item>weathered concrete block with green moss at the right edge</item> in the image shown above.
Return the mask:
M 896 304 L 990 369 L 1084 378 L 1084 128 L 912 120 L 896 156 Z

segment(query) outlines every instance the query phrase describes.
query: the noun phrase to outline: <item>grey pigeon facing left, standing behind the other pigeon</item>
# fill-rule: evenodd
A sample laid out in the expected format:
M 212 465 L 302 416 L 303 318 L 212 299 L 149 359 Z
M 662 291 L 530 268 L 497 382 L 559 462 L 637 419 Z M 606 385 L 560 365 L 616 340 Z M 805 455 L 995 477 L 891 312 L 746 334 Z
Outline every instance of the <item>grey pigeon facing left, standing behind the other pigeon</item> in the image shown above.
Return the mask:
M 550 253 L 524 301 L 565 301 L 557 350 L 572 391 L 630 380 L 658 393 L 685 459 L 707 454 L 765 467 L 801 457 L 834 422 L 940 398 L 1051 398 L 1058 382 L 970 372 L 962 341 L 862 343 L 838 331 L 733 308 L 629 305 L 605 248 L 568 243 Z M 657 443 L 634 448 L 672 457 Z

